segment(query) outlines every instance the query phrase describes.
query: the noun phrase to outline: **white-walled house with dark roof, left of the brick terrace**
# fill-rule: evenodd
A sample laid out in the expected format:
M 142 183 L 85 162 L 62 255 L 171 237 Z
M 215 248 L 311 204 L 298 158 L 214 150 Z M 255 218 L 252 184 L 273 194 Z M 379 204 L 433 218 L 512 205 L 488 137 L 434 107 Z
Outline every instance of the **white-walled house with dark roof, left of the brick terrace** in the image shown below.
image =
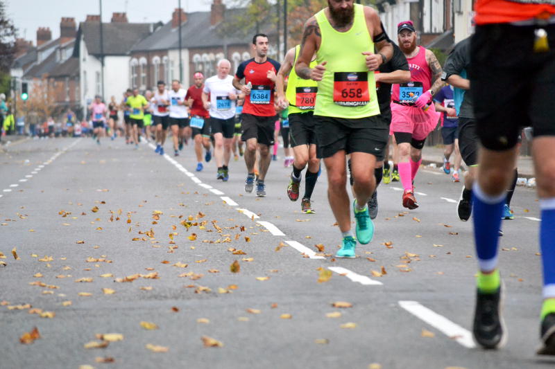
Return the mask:
M 122 93 L 130 87 L 131 48 L 151 35 L 153 28 L 151 23 L 129 23 L 124 12 L 114 12 L 110 23 L 102 23 L 102 27 L 99 15 L 87 15 L 79 24 L 73 56 L 78 59 L 83 109 L 95 95 L 103 96 L 107 102 L 111 96 L 121 100 Z

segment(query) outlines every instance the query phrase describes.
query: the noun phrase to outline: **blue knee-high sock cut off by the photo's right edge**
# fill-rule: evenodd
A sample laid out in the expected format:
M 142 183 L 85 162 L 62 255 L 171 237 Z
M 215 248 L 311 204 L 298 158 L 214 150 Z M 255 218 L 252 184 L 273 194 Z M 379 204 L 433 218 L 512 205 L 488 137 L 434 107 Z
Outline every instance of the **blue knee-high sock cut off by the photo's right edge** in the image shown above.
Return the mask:
M 555 298 L 555 197 L 540 199 L 540 247 L 543 262 L 543 297 Z

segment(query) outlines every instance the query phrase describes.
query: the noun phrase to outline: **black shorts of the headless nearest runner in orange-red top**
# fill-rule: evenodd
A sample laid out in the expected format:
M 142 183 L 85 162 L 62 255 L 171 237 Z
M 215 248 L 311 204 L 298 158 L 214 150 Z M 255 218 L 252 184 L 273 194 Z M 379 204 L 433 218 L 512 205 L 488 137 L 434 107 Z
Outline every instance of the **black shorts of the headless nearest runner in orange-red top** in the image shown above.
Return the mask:
M 533 50 L 535 26 L 488 24 L 476 27 L 469 76 L 480 142 L 509 150 L 521 127 L 534 136 L 555 135 L 555 25 L 544 27 L 549 51 Z

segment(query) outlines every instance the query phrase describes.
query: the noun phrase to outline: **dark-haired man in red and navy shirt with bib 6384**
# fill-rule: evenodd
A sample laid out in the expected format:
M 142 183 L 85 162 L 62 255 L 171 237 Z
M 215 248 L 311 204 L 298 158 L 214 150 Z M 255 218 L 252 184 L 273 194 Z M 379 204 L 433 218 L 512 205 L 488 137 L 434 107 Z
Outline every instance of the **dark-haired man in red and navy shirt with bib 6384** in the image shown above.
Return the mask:
M 253 51 L 256 56 L 239 64 L 233 79 L 235 89 L 245 94 L 243 107 L 243 134 L 246 142 L 245 163 L 247 179 L 245 192 L 253 192 L 255 185 L 255 159 L 257 149 L 260 153 L 259 176 L 256 195 L 266 196 L 264 179 L 271 162 L 270 145 L 273 145 L 273 128 L 275 123 L 274 87 L 275 73 L 280 70 L 280 63 L 266 56 L 268 53 L 268 36 L 257 33 L 253 37 Z M 245 84 L 241 84 L 241 80 Z

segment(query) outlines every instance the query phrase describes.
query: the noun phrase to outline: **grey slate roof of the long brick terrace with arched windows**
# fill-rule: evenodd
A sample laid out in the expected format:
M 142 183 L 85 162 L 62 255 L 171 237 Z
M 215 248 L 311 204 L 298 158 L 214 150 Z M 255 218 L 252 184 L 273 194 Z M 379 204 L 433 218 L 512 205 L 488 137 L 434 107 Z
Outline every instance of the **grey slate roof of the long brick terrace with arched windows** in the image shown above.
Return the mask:
M 241 9 L 225 10 L 227 17 Z M 209 25 L 209 26 L 207 26 Z M 171 21 L 160 27 L 155 33 L 146 37 L 133 46 L 132 51 L 155 51 L 179 48 L 179 28 L 171 28 Z M 210 26 L 210 12 L 187 13 L 187 21 L 181 25 L 182 48 L 205 48 L 221 46 L 222 44 L 237 45 L 248 44 L 244 37 L 231 35 L 222 36 L 219 25 Z

